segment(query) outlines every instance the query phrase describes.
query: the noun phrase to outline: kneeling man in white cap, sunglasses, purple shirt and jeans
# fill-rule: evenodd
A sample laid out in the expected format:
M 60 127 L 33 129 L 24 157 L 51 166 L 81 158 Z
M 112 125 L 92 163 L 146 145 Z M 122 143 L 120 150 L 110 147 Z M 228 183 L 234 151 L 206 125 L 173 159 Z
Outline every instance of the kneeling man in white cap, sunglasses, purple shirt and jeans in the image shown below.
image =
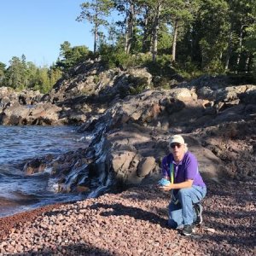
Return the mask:
M 180 135 L 171 137 L 171 153 L 162 160 L 162 184 L 164 191 L 172 190 L 169 205 L 168 224 L 172 229 L 183 228 L 185 236 L 193 232 L 194 224 L 201 224 L 201 200 L 207 194 L 195 155 L 188 151 L 187 144 Z M 163 183 L 164 181 L 164 183 Z

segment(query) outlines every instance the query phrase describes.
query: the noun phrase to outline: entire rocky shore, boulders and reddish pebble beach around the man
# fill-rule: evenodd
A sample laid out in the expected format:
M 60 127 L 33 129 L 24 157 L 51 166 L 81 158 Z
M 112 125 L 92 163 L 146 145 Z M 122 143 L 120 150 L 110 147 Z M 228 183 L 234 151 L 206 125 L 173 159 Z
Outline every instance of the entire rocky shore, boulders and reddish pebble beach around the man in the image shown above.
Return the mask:
M 58 192 L 89 199 L 1 218 L 0 255 L 256 253 L 256 85 L 205 76 L 164 90 L 154 81 L 145 68 L 87 61 L 44 96 L 1 88 L 1 125 L 76 124 L 93 137 L 20 166 L 47 169 Z M 168 195 L 154 187 L 172 134 L 183 135 L 208 187 L 204 224 L 189 238 L 166 227 Z

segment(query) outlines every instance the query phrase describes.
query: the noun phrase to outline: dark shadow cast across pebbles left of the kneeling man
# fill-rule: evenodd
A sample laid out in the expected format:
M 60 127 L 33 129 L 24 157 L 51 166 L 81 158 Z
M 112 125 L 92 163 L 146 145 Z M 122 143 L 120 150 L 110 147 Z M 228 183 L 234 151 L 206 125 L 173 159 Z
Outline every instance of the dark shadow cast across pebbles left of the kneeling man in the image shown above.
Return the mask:
M 147 212 L 137 207 L 125 207 L 122 204 L 102 204 L 96 203 L 95 205 L 91 206 L 90 209 L 99 209 L 104 208 L 107 211 L 102 212 L 101 215 L 104 217 L 108 216 L 130 216 L 132 218 L 141 219 L 149 221 L 153 224 L 160 224 L 162 228 L 167 228 L 167 223 L 165 218 L 160 218 L 158 215 L 154 214 L 153 212 Z M 112 211 L 109 211 L 112 209 Z

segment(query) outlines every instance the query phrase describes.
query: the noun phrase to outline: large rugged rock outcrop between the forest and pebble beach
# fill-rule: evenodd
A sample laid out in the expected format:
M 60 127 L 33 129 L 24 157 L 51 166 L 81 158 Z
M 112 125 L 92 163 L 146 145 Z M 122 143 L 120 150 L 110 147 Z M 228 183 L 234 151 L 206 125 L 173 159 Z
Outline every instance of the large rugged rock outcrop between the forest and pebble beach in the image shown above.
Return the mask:
M 117 184 L 154 183 L 173 134 L 183 135 L 206 180 L 255 176 L 255 85 L 202 77 L 170 81 L 164 90 L 155 81 L 145 68 L 106 70 L 87 61 L 47 95 L 0 90 L 0 122 L 75 124 L 92 134 L 89 148 L 44 161 L 60 191 L 96 195 Z M 44 165 L 26 172 L 44 172 Z

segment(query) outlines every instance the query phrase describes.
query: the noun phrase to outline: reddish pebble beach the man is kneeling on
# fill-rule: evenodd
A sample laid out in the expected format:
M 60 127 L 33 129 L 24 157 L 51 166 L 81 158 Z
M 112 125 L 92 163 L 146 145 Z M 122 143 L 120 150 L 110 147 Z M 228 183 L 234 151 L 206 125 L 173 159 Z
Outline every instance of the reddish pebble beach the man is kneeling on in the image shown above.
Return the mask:
M 255 255 L 255 185 L 208 182 L 191 237 L 166 226 L 169 195 L 154 185 L 0 218 L 0 255 Z

